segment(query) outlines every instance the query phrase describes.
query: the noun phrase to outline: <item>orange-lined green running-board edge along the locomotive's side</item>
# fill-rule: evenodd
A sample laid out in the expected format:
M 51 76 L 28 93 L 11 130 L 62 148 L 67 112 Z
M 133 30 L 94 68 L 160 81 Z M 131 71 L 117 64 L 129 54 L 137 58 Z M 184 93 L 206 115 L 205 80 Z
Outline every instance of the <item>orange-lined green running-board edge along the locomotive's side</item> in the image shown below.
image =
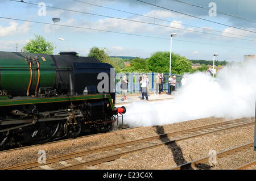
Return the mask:
M 89 100 L 89 99 L 104 99 L 108 98 L 112 110 L 114 105 L 110 94 L 95 94 L 95 95 L 81 95 L 81 96 L 59 96 L 54 98 L 28 98 L 26 96 L 20 97 L 16 100 L 0 100 L 0 107 L 3 106 L 19 106 L 23 104 L 42 104 L 42 103 L 53 103 L 53 102 L 70 102 L 76 100 Z

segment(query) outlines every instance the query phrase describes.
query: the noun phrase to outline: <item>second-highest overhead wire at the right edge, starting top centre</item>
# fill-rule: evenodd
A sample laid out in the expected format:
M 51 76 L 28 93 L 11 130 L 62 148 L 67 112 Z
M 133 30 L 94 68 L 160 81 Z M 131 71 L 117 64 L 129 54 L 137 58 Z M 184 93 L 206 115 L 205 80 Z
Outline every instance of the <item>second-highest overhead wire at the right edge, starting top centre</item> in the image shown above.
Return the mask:
M 204 18 L 200 18 L 200 17 L 198 17 L 198 16 L 186 14 L 186 13 L 184 13 L 184 12 L 179 12 L 179 11 L 176 11 L 176 10 L 168 9 L 167 7 L 154 5 L 154 4 L 149 3 L 149 2 L 144 2 L 144 1 L 141 1 L 141 0 L 136 0 L 136 1 L 145 3 L 145 4 L 147 4 L 147 5 L 156 6 L 156 7 L 159 7 L 160 9 L 164 9 L 164 10 L 169 10 L 169 11 L 177 12 L 177 13 L 179 13 L 179 14 L 183 14 L 183 15 L 186 15 L 186 16 L 191 16 L 192 18 L 197 18 L 197 19 L 205 20 L 205 21 L 207 21 L 207 22 L 220 24 L 220 25 L 222 25 L 222 26 L 226 26 L 226 27 L 230 27 L 230 28 L 236 28 L 236 29 L 238 29 L 238 30 L 243 30 L 243 31 L 247 31 L 247 32 L 256 33 L 255 31 L 245 30 L 245 29 L 243 29 L 243 28 L 234 27 L 234 26 L 231 26 L 231 25 L 228 25 L 228 24 L 214 22 L 214 21 L 209 20 L 209 19 L 204 19 Z

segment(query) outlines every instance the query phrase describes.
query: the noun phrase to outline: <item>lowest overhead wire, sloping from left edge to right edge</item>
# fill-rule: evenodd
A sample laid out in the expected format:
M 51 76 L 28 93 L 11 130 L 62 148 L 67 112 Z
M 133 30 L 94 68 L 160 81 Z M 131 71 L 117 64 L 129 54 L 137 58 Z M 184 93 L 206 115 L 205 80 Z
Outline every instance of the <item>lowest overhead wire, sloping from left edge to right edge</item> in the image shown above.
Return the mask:
M 9 17 L 3 17 L 0 16 L 1 19 L 11 19 L 11 20 L 18 20 L 22 22 L 31 22 L 31 23 L 39 23 L 39 24 L 48 24 L 54 26 L 53 23 L 46 23 L 46 22 L 38 22 L 38 21 L 32 21 L 32 20 L 24 20 L 24 19 L 17 19 L 17 18 L 9 18 Z M 125 32 L 116 32 L 116 31 L 109 31 L 109 30 L 100 30 L 96 28 L 86 28 L 86 27 L 77 27 L 77 26 L 70 26 L 70 25 L 65 25 L 65 24 L 55 24 L 55 26 L 61 26 L 61 27 L 69 27 L 69 28 L 79 28 L 79 29 L 84 29 L 84 30 L 94 30 L 94 31 L 102 31 L 102 32 L 110 32 L 110 33 L 118 33 L 122 35 L 131 35 L 131 36 L 139 36 L 139 37 L 149 37 L 153 39 L 162 39 L 162 40 L 168 40 L 170 41 L 170 38 L 167 37 L 157 37 L 157 36 L 147 36 L 147 35 L 138 35 L 134 33 L 125 33 Z M 241 48 L 241 49 L 253 49 L 253 48 L 245 48 L 245 47 L 236 47 L 236 46 L 231 46 L 231 45 L 222 45 L 222 44 L 213 44 L 213 43 L 205 43 L 205 42 L 200 42 L 200 41 L 187 41 L 187 40 L 178 40 L 175 39 L 174 41 L 182 41 L 182 42 L 187 42 L 187 43 L 197 43 L 197 44 L 208 44 L 208 45 L 216 45 L 216 46 L 221 46 L 221 47 L 231 47 L 231 48 Z M 256 49 L 253 49 L 256 50 Z

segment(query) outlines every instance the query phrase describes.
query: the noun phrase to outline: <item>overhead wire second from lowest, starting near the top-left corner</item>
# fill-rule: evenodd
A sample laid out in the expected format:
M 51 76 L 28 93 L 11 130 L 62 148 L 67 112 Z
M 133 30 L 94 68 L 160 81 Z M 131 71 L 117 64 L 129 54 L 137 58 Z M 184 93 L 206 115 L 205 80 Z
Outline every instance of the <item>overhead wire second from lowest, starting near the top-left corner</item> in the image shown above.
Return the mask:
M 20 1 L 16 1 L 16 0 L 9 0 L 9 1 L 20 2 Z M 38 5 L 35 4 L 35 3 L 30 3 L 30 2 L 23 2 L 23 3 L 27 3 L 27 4 L 29 4 L 29 5 L 38 6 Z M 44 5 L 42 5 L 42 6 L 44 6 Z M 167 27 L 167 28 L 175 28 L 175 29 L 178 29 L 178 30 L 184 30 L 184 31 L 189 31 L 189 32 L 205 33 L 205 34 L 208 34 L 208 35 L 221 36 L 221 37 L 228 37 L 228 38 L 231 38 L 231 39 L 238 39 L 238 40 L 245 40 L 245 41 L 254 41 L 254 42 L 256 42 L 256 40 L 241 39 L 241 38 L 239 38 L 239 37 L 232 37 L 232 36 L 225 36 L 225 35 L 217 35 L 217 34 L 214 34 L 214 33 L 208 33 L 208 32 L 201 32 L 201 31 L 189 30 L 189 29 L 185 29 L 185 28 L 172 27 L 172 26 L 167 26 L 167 25 L 163 25 L 163 24 L 142 22 L 142 21 L 139 21 L 139 20 L 131 20 L 131 19 L 117 18 L 117 17 L 107 16 L 107 15 L 92 14 L 92 13 L 89 13 L 89 12 L 76 11 L 76 10 L 69 10 L 69 9 L 63 9 L 63 8 L 60 8 L 60 7 L 53 7 L 53 6 L 44 6 L 44 7 L 48 7 L 48 8 L 52 8 L 52 9 L 65 10 L 65 11 L 79 12 L 79 13 L 82 13 L 82 14 L 89 14 L 89 15 L 95 15 L 95 16 L 102 16 L 102 17 L 105 17 L 105 18 L 126 20 L 126 21 L 129 21 L 129 22 L 137 22 L 137 23 L 151 24 L 151 25 L 154 25 L 154 26 L 161 26 L 161 27 Z

